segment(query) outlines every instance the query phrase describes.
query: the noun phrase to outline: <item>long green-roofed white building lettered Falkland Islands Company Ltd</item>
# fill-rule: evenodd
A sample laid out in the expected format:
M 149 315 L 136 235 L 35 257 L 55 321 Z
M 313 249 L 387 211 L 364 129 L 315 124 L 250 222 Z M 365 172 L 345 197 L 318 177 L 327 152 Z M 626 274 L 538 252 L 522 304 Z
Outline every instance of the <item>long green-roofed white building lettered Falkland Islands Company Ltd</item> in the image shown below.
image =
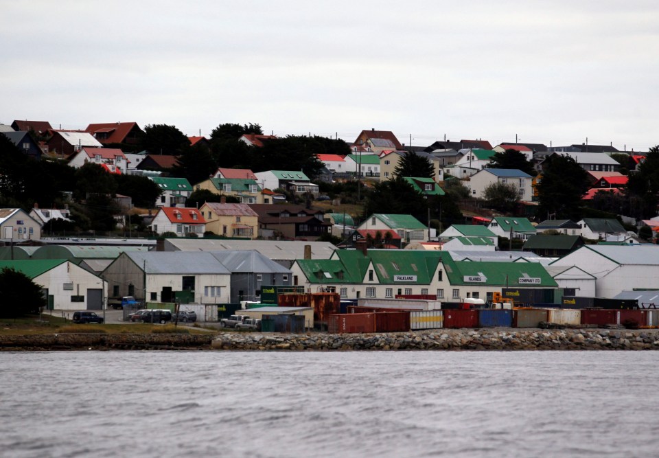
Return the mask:
M 454 261 L 448 251 L 338 249 L 329 260 L 296 260 L 290 269 L 294 285 L 342 299 L 436 295 L 455 302 L 492 299 L 506 287 L 557 287 L 540 263 Z

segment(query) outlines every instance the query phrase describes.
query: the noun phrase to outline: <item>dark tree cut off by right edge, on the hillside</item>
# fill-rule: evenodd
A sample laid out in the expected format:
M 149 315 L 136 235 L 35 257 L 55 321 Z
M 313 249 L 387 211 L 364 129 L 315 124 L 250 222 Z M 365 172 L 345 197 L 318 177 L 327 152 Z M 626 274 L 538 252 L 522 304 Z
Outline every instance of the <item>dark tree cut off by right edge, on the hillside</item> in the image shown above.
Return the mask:
M 638 165 L 638 171 L 629 174 L 627 190 L 630 197 L 636 198 L 638 218 L 656 216 L 659 203 L 659 145 L 650 148 Z

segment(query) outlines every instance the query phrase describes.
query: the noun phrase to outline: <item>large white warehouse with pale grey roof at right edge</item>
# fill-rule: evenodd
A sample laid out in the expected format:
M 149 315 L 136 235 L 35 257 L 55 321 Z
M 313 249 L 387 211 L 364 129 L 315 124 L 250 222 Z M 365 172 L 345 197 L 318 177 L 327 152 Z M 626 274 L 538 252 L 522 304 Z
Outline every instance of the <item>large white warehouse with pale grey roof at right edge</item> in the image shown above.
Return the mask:
M 550 266 L 576 266 L 596 278 L 591 297 L 615 297 L 623 290 L 657 288 L 659 246 L 584 245 Z

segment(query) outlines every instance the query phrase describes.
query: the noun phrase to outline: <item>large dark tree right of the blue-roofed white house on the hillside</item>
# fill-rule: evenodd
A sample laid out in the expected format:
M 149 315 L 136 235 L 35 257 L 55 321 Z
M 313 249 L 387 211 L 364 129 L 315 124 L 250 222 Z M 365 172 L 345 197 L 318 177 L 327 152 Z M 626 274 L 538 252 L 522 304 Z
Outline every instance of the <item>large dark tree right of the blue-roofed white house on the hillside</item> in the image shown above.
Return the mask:
M 578 221 L 581 198 L 588 191 L 588 173 L 570 156 L 552 154 L 545 159 L 540 183 L 537 184 L 537 214 L 540 218 L 555 215 L 555 219 Z

